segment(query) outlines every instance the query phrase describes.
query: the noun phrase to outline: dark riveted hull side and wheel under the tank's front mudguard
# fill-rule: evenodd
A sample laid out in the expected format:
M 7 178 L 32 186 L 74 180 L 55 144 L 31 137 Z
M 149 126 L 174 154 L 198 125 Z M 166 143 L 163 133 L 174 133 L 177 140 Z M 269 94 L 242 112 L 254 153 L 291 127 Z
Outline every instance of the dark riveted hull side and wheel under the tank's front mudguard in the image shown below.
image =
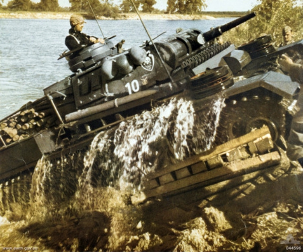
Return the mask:
M 249 133 L 263 125 L 269 127 L 273 141 L 286 134 L 286 109 L 275 97 L 263 94 L 228 99 L 222 109 L 217 129 L 217 143 Z

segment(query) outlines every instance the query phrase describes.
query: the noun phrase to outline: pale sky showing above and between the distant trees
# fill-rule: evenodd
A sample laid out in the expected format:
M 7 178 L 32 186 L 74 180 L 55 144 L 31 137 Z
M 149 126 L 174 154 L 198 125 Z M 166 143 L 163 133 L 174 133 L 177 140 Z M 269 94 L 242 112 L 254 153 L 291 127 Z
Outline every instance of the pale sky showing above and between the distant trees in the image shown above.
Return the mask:
M 9 0 L 4 0 L 6 4 Z M 33 2 L 40 2 L 40 0 L 32 0 Z M 116 4 L 121 3 L 122 0 L 114 0 Z M 159 10 L 165 10 L 167 7 L 167 0 L 156 0 L 154 5 Z M 205 11 L 248 11 L 257 5 L 257 0 L 206 0 L 207 8 Z M 69 7 L 68 0 L 59 0 L 61 7 Z

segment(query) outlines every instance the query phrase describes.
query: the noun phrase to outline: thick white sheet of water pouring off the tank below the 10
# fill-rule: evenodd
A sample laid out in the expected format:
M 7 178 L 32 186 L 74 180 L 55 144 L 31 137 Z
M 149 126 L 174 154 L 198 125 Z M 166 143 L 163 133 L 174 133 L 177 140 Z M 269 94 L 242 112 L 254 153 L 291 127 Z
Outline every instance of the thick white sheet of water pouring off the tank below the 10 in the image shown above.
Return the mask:
M 191 100 L 173 98 L 101 132 L 85 155 L 80 185 L 142 189 L 147 174 L 211 147 L 222 106 L 218 96 L 196 112 Z

